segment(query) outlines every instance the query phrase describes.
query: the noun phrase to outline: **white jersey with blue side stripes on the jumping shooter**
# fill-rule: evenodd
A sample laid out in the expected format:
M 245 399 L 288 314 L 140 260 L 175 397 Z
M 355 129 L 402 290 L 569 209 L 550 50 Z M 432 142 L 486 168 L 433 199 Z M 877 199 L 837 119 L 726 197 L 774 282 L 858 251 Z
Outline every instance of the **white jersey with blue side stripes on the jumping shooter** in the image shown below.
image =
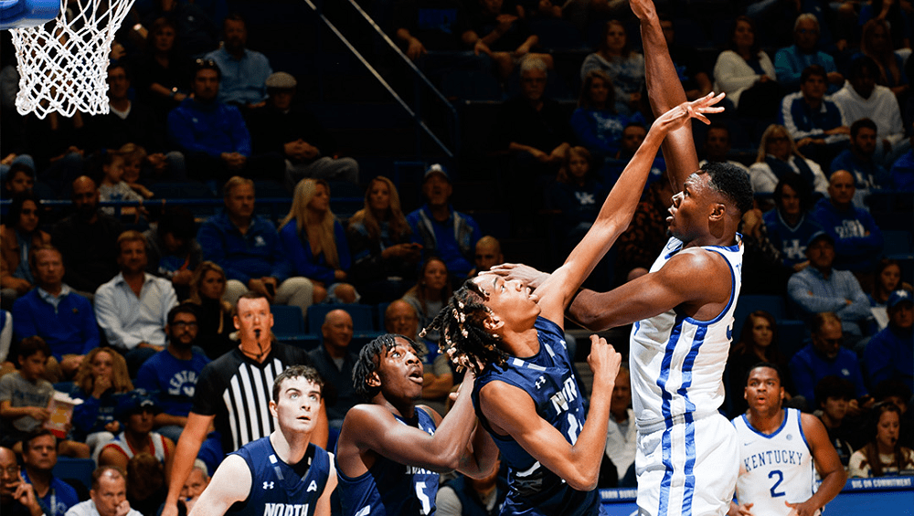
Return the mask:
M 664 267 L 682 250 L 683 243 L 670 238 L 651 272 Z M 629 366 L 632 372 L 632 405 L 638 428 L 643 432 L 692 417 L 717 413 L 724 401 L 724 366 L 733 332 L 733 311 L 739 297 L 742 269 L 742 237 L 734 246 L 705 246 L 727 260 L 730 269 L 730 299 L 711 321 L 696 321 L 671 310 L 638 321 L 632 328 Z

